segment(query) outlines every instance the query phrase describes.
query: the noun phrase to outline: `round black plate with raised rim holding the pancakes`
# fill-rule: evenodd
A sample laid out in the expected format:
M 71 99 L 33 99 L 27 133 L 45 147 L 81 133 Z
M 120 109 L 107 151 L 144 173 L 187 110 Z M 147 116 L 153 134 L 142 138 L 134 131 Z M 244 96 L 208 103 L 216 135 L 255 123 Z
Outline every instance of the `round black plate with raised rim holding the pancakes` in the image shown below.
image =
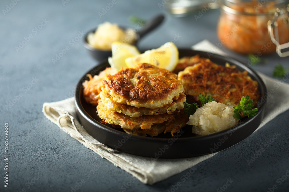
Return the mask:
M 251 78 L 258 82 L 261 98 L 264 97 L 266 92 L 264 82 L 254 70 L 241 62 L 216 54 L 208 54 L 207 52 L 179 49 L 180 58 L 196 54 L 199 54 L 200 57 L 210 58 L 212 62 L 219 65 L 224 66 L 228 62 L 231 65 L 235 65 L 240 71 L 247 70 Z M 192 134 L 192 126 L 186 126 L 173 137 L 170 133 L 160 134 L 155 137 L 129 135 L 122 129 L 101 123 L 101 119 L 96 113 L 96 107 L 86 103 L 82 96 L 82 83 L 87 79 L 86 74 L 97 75 L 108 66 L 108 60 L 104 60 L 84 74 L 76 87 L 75 105 L 79 121 L 86 131 L 99 142 L 118 151 L 155 159 L 196 157 L 215 153 L 236 145 L 247 138 L 257 129 L 264 116 L 265 102 L 258 102 L 257 115 L 253 118 L 243 118 L 237 126 L 218 133 L 197 136 Z

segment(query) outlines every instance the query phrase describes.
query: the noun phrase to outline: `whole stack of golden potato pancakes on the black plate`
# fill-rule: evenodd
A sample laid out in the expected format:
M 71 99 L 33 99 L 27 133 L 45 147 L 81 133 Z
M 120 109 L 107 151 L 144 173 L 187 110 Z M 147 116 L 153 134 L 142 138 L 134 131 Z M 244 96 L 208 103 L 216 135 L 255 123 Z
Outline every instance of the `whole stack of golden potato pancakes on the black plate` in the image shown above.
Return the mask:
M 166 69 L 142 63 L 106 75 L 103 84 L 97 105 L 102 123 L 140 136 L 173 135 L 186 125 L 184 87 Z

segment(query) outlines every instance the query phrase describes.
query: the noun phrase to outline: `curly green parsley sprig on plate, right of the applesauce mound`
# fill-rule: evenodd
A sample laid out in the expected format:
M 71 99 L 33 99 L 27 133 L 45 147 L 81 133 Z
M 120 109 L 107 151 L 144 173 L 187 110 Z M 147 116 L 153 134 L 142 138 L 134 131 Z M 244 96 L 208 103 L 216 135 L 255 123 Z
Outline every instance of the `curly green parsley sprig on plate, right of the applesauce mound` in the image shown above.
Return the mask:
M 253 100 L 249 98 L 248 95 L 245 95 L 240 100 L 240 105 L 237 104 L 236 107 L 234 107 L 234 118 L 237 120 L 241 119 L 240 113 L 244 113 L 245 116 L 252 118 L 254 115 L 256 115 L 258 112 L 258 109 L 252 109 L 254 105 L 252 104 Z

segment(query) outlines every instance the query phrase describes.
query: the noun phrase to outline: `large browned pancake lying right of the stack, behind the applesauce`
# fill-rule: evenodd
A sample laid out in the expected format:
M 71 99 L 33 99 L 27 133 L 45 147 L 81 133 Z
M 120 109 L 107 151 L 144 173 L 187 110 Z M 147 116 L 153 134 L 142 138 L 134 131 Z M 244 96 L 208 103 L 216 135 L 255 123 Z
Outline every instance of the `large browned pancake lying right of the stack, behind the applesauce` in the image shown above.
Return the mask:
M 186 94 L 192 95 L 196 101 L 199 101 L 197 95 L 203 92 L 221 103 L 234 106 L 246 94 L 253 99 L 255 106 L 260 98 L 258 83 L 247 71 L 240 72 L 234 66 L 220 66 L 209 59 L 188 66 L 179 72 L 178 79 L 184 85 Z

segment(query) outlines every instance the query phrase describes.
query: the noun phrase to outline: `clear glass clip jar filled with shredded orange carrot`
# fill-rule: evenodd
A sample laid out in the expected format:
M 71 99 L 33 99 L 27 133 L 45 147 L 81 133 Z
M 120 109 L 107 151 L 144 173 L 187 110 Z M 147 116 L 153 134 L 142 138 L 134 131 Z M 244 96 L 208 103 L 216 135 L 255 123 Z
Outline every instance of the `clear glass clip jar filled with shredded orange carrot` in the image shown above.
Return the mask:
M 276 43 L 289 42 L 288 6 L 288 0 L 220 0 L 218 38 L 225 47 L 240 54 L 271 54 L 276 51 Z

